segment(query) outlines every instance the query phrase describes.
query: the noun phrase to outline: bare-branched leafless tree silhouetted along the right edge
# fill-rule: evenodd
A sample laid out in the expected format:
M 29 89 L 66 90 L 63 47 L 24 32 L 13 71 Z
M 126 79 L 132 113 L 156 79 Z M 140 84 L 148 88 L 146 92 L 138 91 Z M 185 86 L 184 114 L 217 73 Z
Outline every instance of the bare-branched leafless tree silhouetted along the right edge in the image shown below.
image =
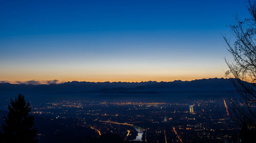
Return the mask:
M 255 2 L 248 1 L 250 18 L 239 20 L 229 25 L 234 35 L 234 43 L 224 37 L 233 61 L 225 59 L 229 70 L 226 77 L 237 89 L 241 98 L 230 99 L 230 112 L 240 125 L 246 122 L 256 127 L 256 7 Z

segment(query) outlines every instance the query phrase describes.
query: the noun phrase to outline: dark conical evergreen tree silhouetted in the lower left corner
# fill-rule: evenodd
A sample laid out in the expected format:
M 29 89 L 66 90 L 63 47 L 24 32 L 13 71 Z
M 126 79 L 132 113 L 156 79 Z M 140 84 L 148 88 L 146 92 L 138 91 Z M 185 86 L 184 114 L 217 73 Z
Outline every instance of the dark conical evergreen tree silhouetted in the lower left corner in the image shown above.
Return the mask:
M 34 116 L 29 116 L 31 107 L 26 103 L 24 96 L 19 94 L 11 105 L 8 106 L 9 113 L 2 125 L 1 140 L 6 143 L 34 143 L 37 130 L 33 128 Z

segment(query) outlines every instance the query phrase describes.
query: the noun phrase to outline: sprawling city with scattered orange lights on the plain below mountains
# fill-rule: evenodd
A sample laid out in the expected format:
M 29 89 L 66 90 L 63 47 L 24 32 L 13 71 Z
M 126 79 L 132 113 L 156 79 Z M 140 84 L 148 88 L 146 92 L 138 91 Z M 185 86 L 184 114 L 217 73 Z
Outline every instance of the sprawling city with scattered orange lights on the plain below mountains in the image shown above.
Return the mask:
M 95 137 L 112 133 L 127 141 L 232 142 L 239 128 L 220 101 L 223 99 L 182 103 L 70 100 L 35 105 L 33 113 L 62 126 L 90 128 Z M 44 138 L 43 133 L 38 136 Z

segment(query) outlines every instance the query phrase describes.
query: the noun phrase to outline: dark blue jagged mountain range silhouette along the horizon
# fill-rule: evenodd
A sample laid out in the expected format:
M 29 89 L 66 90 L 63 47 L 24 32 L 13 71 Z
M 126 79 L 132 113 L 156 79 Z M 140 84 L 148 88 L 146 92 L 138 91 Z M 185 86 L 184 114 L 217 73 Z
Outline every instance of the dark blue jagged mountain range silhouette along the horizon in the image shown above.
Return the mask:
M 226 78 L 175 80 L 171 82 L 86 82 L 72 81 L 60 84 L 0 83 L 0 98 L 10 99 L 24 94 L 26 98 L 61 97 L 175 97 L 175 96 L 229 96 L 236 89 Z

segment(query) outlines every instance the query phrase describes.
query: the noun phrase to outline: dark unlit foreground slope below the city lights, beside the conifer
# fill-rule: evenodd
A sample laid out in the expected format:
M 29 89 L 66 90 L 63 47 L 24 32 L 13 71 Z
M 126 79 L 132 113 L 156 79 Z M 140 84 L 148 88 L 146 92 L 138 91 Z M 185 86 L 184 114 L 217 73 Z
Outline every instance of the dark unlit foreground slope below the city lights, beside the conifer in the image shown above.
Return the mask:
M 4 116 L 7 117 L 7 111 L 0 110 L 0 131 L 4 124 Z M 66 142 L 66 143 L 122 143 L 122 142 L 139 142 L 124 141 L 116 134 L 98 134 L 88 127 L 77 126 L 72 120 L 51 120 L 44 115 L 34 115 L 34 127 L 37 129 L 38 143 L 47 142 Z

